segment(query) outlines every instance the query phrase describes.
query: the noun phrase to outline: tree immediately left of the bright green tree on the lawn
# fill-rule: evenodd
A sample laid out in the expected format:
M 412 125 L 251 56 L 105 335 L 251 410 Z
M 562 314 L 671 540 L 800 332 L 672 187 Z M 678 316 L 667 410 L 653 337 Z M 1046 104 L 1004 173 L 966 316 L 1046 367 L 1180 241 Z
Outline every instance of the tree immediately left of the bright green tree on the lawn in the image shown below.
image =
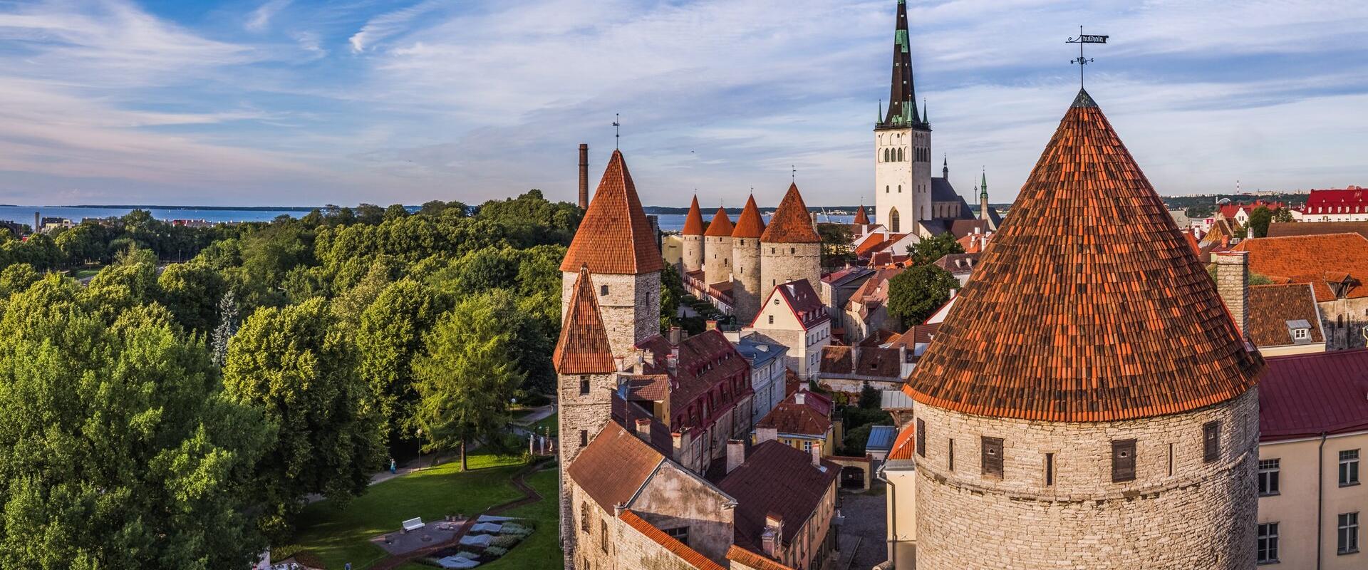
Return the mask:
M 413 359 L 424 353 L 423 334 L 432 329 L 445 301 L 412 279 L 390 284 L 361 313 L 356 346 L 361 379 L 371 387 L 384 418 L 390 447 L 415 436 Z

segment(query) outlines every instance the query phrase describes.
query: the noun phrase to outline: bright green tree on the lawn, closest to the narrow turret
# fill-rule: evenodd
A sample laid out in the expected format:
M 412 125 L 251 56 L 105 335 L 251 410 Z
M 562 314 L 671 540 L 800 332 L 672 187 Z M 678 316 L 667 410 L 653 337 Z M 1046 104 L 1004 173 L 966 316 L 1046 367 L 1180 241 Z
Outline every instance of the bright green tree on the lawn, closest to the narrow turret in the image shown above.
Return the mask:
M 480 442 L 497 446 L 508 424 L 509 399 L 523 384 L 514 335 L 506 327 L 506 294 L 461 301 L 425 339 L 427 354 L 413 362 L 417 376 L 417 424 L 424 450 L 461 450 Z

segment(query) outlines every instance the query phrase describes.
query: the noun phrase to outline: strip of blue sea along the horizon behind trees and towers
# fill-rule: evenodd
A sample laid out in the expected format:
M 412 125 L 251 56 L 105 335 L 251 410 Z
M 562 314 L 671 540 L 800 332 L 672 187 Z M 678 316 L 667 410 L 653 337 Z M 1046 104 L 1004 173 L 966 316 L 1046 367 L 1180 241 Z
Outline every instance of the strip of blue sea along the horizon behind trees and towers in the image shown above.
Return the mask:
M 0 205 L 0 220 L 15 221 L 21 224 L 33 226 L 33 215 L 37 212 L 42 217 L 66 217 L 73 223 L 81 223 L 88 217 L 103 219 L 103 217 L 122 217 L 129 212 L 134 211 L 135 206 L 14 206 L 14 205 Z M 271 221 L 278 216 L 291 216 L 301 217 L 312 208 L 246 208 L 246 209 L 230 209 L 230 208 L 196 208 L 196 206 L 137 206 L 137 209 L 145 209 L 152 212 L 152 217 L 163 221 L 171 220 L 205 220 L 213 223 L 223 221 Z M 772 215 L 763 215 L 765 223 L 769 223 Z M 657 215 L 661 224 L 661 231 L 680 231 L 684 228 L 684 215 L 683 213 L 662 213 Z M 839 215 L 818 215 L 818 221 L 830 221 L 848 224 L 855 220 L 855 216 L 839 216 Z M 732 221 L 736 221 L 736 216 L 732 216 Z

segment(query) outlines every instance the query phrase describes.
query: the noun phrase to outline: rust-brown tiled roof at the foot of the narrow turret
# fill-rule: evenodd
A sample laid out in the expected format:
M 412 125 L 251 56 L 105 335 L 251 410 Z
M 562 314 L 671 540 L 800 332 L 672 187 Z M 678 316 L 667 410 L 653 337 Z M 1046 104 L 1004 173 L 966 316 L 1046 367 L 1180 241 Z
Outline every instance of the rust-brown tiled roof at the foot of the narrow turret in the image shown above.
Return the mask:
M 607 422 L 570 462 L 570 478 L 607 513 L 627 504 L 665 461 L 654 447 L 616 422 Z

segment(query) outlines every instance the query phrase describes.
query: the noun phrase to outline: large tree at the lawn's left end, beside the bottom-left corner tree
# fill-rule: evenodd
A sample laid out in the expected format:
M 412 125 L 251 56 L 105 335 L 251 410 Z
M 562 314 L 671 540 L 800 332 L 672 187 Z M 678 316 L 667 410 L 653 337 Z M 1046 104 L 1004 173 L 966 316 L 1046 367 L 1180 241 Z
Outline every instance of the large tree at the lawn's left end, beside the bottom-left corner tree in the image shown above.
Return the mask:
M 223 384 L 278 429 L 259 463 L 261 528 L 285 536 L 304 499 L 346 503 L 380 466 L 379 414 L 356 372 L 356 350 L 323 299 L 257 309 L 228 344 Z

